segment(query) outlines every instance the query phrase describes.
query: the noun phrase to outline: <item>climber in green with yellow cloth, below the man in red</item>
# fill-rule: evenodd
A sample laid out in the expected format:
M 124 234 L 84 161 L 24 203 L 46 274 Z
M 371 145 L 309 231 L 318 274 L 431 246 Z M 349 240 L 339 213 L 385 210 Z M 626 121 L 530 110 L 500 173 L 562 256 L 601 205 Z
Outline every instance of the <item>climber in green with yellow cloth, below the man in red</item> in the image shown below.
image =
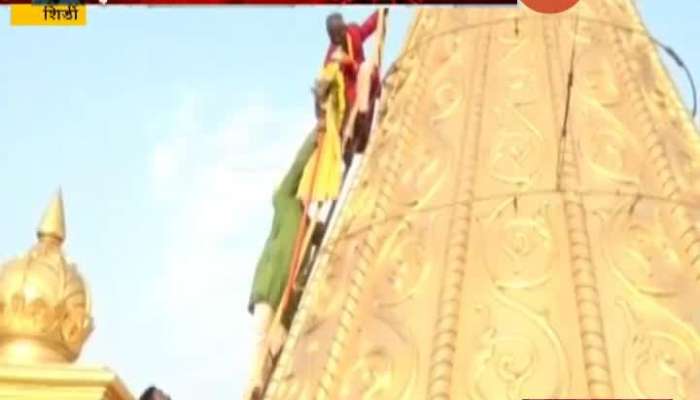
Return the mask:
M 262 395 L 264 379 L 273 368 L 291 323 L 294 310 L 290 303 L 298 299 L 293 288 L 309 253 L 306 249 L 314 231 L 309 223 L 309 204 L 319 199 L 333 199 L 340 190 L 342 177 L 340 124 L 345 109 L 343 79 L 338 63 L 324 68 L 318 94 L 325 96 L 319 111 L 319 123 L 307 138 L 294 165 L 277 191 L 275 221 L 258 263 L 249 309 L 258 327 L 257 354 L 247 399 Z M 310 227 L 310 228 L 309 228 Z M 294 296 L 294 295 L 297 296 Z M 296 298 L 294 298 L 296 297 Z M 274 314 L 274 315 L 273 315 Z

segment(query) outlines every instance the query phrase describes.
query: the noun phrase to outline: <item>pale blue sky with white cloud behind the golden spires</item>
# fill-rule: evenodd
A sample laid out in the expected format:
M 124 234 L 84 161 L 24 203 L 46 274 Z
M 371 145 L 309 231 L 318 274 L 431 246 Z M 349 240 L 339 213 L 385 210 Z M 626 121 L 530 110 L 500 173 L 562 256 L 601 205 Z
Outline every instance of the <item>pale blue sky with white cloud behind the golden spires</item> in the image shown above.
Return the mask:
M 639 3 L 700 80 L 700 3 Z M 238 396 L 271 192 L 312 124 L 334 10 L 110 7 L 79 29 L 0 24 L 0 260 L 32 245 L 61 185 L 66 250 L 94 297 L 81 362 L 109 365 L 135 394 Z M 387 61 L 411 14 L 392 10 Z

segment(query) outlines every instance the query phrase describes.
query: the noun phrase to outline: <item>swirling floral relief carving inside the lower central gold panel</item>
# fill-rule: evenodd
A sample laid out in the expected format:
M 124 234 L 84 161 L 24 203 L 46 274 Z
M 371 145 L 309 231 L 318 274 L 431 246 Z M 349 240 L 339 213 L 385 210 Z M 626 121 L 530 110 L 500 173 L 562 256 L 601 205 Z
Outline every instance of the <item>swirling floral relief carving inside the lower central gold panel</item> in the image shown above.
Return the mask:
M 490 321 L 474 359 L 474 399 L 515 400 L 533 390 L 563 396 L 569 390 L 568 361 L 548 317 L 553 305 L 546 284 L 559 257 L 550 206 L 533 209 L 516 201 L 495 207 L 480 224 L 495 302 L 486 309 Z

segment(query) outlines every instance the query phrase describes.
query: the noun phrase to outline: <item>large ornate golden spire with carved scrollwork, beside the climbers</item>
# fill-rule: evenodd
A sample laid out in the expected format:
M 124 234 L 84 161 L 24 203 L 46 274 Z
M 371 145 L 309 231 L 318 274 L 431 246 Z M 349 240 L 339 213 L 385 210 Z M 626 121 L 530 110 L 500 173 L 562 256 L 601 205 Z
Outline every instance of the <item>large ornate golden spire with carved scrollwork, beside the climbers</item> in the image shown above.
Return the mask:
M 700 144 L 631 0 L 421 9 L 386 86 L 267 399 L 700 398 Z

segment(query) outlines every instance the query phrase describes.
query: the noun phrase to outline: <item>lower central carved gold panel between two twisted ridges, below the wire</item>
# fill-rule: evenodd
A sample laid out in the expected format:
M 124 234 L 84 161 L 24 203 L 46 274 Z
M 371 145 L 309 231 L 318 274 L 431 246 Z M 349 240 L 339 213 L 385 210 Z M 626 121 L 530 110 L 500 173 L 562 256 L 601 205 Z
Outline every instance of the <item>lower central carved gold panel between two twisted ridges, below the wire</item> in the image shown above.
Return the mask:
M 451 398 L 585 393 L 559 196 L 478 202 L 472 224 Z

